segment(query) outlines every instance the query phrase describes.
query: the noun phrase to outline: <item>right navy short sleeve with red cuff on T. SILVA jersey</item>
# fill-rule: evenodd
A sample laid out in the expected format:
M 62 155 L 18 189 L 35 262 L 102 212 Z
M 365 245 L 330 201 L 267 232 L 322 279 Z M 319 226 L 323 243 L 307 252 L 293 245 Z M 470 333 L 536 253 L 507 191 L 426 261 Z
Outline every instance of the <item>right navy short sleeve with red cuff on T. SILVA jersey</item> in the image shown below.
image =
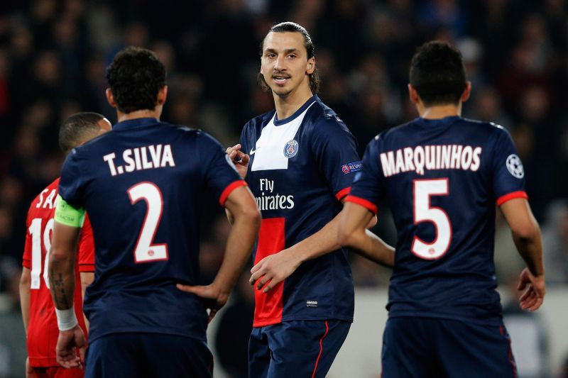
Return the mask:
M 246 185 L 236 168 L 223 150 L 221 144 L 207 133 L 200 132 L 198 146 L 200 150 L 201 166 L 204 169 L 203 177 L 207 189 L 219 199 L 224 206 L 231 191 Z

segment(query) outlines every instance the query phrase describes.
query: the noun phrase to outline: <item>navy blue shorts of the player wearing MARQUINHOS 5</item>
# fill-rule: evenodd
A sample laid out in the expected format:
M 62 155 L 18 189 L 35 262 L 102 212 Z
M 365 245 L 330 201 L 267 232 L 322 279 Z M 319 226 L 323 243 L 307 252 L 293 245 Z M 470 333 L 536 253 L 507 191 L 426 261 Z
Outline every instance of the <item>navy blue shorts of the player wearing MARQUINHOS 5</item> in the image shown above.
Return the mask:
M 505 326 L 439 318 L 389 318 L 383 378 L 517 377 Z

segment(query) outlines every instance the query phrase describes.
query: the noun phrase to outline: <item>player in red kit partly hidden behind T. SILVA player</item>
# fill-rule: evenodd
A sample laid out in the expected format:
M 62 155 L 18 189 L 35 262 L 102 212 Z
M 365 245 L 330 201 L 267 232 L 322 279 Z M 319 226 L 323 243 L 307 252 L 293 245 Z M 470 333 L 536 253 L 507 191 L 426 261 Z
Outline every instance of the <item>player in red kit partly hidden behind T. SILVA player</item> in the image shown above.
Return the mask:
M 60 127 L 60 148 L 67 155 L 73 148 L 110 129 L 110 122 L 101 114 L 89 112 L 73 114 Z M 83 377 L 84 374 L 82 369 L 61 367 L 55 357 L 59 330 L 48 286 L 48 252 L 51 245 L 58 184 L 59 178 L 35 197 L 26 221 L 28 232 L 20 280 L 20 303 L 28 343 L 26 377 L 78 378 Z M 84 331 L 87 328 L 82 312 L 82 295 L 84 289 L 93 281 L 93 272 L 94 241 L 89 218 L 86 216 L 77 245 L 75 266 L 75 279 L 81 282 L 81 285 L 75 287 L 73 294 L 77 321 Z

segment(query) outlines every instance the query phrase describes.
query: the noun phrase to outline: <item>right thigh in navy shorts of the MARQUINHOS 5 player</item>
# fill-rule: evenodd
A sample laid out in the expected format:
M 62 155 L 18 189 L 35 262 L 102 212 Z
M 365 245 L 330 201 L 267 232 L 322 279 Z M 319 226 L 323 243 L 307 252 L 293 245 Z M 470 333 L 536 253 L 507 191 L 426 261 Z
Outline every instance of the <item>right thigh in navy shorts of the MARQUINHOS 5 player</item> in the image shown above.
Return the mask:
M 447 377 L 516 377 L 505 326 L 439 320 L 437 359 Z

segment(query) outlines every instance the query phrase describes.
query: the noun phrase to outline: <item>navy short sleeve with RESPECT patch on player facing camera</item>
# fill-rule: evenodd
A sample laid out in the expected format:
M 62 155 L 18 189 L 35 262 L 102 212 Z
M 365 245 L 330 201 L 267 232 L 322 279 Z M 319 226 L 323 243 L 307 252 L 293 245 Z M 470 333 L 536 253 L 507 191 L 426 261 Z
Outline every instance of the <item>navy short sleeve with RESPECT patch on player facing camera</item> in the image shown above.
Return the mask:
M 314 128 L 312 151 L 320 172 L 340 201 L 349 194 L 356 172 L 361 171 L 357 142 L 344 123 L 326 119 Z

